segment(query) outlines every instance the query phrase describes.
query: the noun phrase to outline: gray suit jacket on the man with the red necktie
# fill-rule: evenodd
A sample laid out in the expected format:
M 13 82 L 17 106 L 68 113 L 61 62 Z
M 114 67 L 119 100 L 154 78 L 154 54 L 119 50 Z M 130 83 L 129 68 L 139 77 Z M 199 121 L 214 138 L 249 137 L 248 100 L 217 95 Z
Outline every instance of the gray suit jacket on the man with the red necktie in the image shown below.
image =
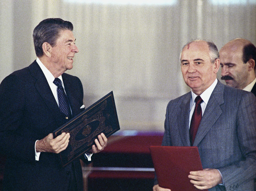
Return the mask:
M 190 146 L 191 92 L 168 103 L 163 144 Z M 194 145 L 203 168 L 219 169 L 225 186 L 209 191 L 253 191 L 256 177 L 256 97 L 218 81 L 204 111 Z

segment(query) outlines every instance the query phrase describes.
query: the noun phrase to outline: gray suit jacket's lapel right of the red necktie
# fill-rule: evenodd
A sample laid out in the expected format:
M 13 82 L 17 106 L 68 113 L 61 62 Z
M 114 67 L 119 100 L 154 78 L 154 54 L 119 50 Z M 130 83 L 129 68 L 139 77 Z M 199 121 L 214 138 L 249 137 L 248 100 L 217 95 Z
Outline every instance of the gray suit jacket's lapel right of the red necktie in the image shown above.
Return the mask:
M 197 146 L 204 136 L 208 133 L 217 119 L 220 117 L 222 110 L 220 105 L 224 103 L 224 85 L 218 80 L 213 93 L 206 105 L 202 120 L 198 127 L 196 138 L 193 146 Z

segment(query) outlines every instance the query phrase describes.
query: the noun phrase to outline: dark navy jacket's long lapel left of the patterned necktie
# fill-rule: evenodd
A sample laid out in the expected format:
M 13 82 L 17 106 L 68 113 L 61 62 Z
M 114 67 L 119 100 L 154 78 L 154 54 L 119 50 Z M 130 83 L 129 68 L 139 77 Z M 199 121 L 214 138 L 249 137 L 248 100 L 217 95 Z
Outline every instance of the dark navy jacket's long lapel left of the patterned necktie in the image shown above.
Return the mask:
M 35 88 L 37 92 L 40 94 L 43 101 L 51 111 L 53 117 L 55 117 L 56 121 L 58 122 L 60 119 L 62 119 L 62 115 L 60 113 L 59 106 L 52 94 L 52 90 L 50 89 L 50 86 L 46 80 L 46 77 L 43 74 L 43 71 L 36 61 L 34 61 L 29 66 L 29 70 L 31 75 L 35 78 Z

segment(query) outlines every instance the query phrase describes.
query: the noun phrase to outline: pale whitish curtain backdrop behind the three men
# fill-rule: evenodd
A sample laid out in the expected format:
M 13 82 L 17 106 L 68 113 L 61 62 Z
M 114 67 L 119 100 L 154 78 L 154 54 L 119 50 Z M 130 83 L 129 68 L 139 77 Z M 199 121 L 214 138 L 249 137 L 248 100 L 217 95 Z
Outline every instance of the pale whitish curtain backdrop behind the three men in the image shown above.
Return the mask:
M 35 26 L 60 17 L 74 25 L 79 53 L 67 73 L 81 79 L 84 104 L 114 91 L 121 129 L 163 131 L 168 101 L 190 91 L 178 60 L 187 41 L 212 40 L 219 49 L 237 37 L 256 44 L 256 0 L 170 2 L 1 0 L 0 80 L 36 59 Z

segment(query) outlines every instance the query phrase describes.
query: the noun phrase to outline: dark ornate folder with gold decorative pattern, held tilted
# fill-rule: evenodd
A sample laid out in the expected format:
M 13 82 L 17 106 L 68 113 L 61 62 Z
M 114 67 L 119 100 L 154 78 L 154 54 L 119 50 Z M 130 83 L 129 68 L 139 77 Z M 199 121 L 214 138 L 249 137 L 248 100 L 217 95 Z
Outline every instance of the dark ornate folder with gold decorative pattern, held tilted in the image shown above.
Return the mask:
M 91 150 L 99 134 L 104 133 L 109 137 L 119 129 L 114 95 L 111 91 L 53 132 L 54 138 L 63 132 L 70 133 L 68 147 L 59 153 L 62 165 L 69 164 Z

